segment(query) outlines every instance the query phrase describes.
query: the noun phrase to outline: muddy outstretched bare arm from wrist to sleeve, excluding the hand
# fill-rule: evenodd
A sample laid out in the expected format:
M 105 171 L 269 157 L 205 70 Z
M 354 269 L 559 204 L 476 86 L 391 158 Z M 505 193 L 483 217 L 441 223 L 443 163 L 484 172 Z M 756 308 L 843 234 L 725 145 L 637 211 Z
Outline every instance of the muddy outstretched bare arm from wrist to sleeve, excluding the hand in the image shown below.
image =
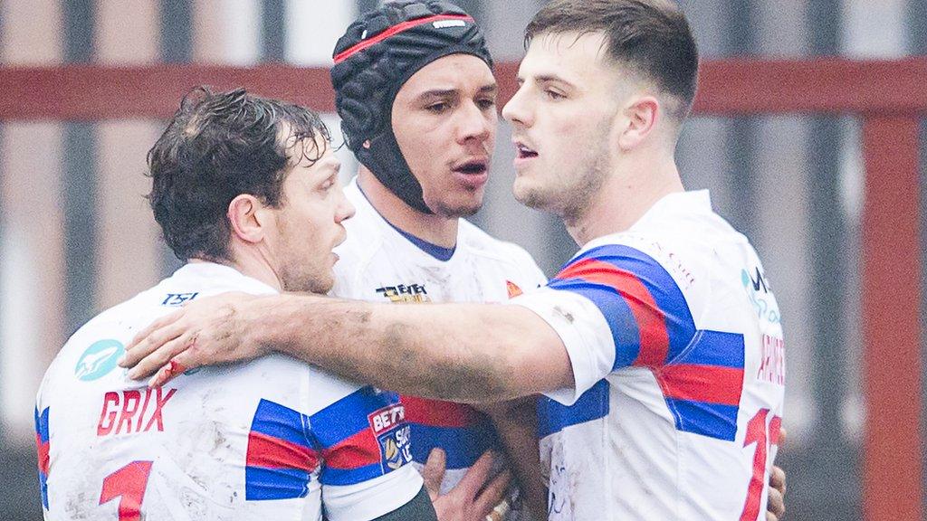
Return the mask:
M 544 331 L 544 324 L 530 324 L 531 317 L 540 319 L 515 306 L 379 305 L 294 295 L 275 299 L 274 313 L 263 315 L 268 320 L 260 324 L 259 341 L 377 387 L 478 402 L 555 388 L 559 384 L 554 382 L 563 380 L 562 375 L 532 377 L 536 366 L 547 362 L 533 347 L 559 338 Z M 546 339 L 539 338 L 545 334 Z M 569 366 L 565 356 L 564 351 L 560 371 L 548 373 L 562 374 L 563 364 Z

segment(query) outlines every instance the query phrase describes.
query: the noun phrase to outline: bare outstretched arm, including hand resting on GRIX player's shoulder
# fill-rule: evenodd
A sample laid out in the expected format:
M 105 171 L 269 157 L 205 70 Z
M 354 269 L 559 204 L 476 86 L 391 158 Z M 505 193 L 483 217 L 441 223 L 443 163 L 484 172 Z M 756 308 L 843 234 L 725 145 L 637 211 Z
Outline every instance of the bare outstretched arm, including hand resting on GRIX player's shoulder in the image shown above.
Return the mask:
M 533 311 L 502 304 L 401 306 L 308 295 L 226 294 L 159 319 L 127 348 L 133 378 L 279 350 L 401 393 L 464 402 L 573 386 L 566 349 Z M 137 365 L 136 365 L 137 363 Z

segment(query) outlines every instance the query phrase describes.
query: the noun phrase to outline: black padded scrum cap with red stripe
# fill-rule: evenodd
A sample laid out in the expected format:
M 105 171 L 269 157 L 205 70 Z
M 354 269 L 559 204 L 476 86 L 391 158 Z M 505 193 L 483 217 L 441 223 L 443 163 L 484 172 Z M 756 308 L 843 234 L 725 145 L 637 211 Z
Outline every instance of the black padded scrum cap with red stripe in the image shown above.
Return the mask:
M 418 70 L 452 54 L 492 67 L 483 33 L 458 6 L 439 0 L 388 3 L 364 13 L 335 46 L 332 84 L 345 141 L 381 183 L 415 210 L 431 213 L 392 128 L 396 94 Z M 370 142 L 369 147 L 363 146 Z

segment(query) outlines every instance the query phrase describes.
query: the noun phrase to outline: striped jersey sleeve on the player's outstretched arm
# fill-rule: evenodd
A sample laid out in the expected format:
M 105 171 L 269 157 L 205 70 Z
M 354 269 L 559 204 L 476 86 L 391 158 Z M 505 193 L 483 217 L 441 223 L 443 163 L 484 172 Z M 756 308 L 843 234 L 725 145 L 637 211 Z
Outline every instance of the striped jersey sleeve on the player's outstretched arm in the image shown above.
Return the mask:
M 513 300 L 563 340 L 575 387 L 548 394 L 565 405 L 622 367 L 660 367 L 692 341 L 695 326 L 679 286 L 640 249 L 609 244 L 569 261 L 539 290 Z

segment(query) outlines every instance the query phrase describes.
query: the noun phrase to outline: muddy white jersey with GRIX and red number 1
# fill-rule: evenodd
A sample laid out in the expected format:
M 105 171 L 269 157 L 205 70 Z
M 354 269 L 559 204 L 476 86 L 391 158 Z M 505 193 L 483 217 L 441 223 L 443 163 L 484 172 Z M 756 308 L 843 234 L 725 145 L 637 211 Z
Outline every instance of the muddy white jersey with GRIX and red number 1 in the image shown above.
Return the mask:
M 153 389 L 116 365 L 140 328 L 226 291 L 274 292 L 191 262 L 70 337 L 35 411 L 46 520 L 372 519 L 421 489 L 394 393 L 279 354 Z

